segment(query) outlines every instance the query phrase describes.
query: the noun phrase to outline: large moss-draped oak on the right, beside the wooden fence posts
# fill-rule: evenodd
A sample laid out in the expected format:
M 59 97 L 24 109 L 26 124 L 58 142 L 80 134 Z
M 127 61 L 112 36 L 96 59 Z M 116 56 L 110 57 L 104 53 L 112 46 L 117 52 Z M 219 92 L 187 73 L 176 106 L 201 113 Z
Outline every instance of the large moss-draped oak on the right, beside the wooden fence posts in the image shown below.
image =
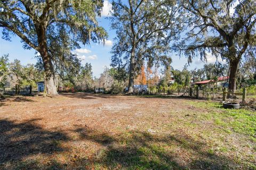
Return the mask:
M 189 62 L 196 55 L 206 58 L 207 50 L 220 54 L 230 64 L 229 91 L 236 90 L 239 62 L 255 58 L 256 2 L 254 0 L 183 1 L 187 12 L 187 36 L 178 48 Z

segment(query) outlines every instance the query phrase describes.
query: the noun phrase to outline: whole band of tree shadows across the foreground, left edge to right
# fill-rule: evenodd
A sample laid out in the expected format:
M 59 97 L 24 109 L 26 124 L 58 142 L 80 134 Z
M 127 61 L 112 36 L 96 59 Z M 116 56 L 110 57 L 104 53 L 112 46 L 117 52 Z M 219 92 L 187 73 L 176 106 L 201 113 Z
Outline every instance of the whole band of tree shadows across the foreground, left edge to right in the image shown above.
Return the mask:
M 0 121 L 0 169 L 1 163 L 10 164 L 10 160 L 15 161 L 11 164 L 16 169 L 249 169 L 230 158 L 209 152 L 207 143 L 183 133 L 160 135 L 125 131 L 111 135 L 108 131 L 77 125 L 74 132 L 78 138 L 70 139 L 62 132 L 43 130 L 36 121 Z M 81 156 L 86 153 L 85 147 L 82 152 L 75 152 L 74 159 L 66 163 L 54 158 L 43 164 L 36 159 L 22 159 L 39 154 L 62 154 L 64 151 L 73 154 L 60 147 L 58 141 L 89 141 L 100 147 L 95 147 L 98 150 L 90 159 Z

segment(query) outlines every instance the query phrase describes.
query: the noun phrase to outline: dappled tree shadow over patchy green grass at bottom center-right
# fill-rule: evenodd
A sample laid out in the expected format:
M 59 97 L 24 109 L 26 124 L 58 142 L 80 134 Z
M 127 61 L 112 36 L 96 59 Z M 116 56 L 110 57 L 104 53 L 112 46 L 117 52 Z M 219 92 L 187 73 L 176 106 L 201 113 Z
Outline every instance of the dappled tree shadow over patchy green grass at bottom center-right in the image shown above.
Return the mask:
M 110 137 L 107 133 L 94 133 L 95 131 L 90 129 L 79 128 L 76 132 L 80 133 L 83 139 L 103 146 L 91 163 L 108 169 L 213 170 L 238 167 L 233 160 L 210 153 L 206 143 L 179 134 L 163 137 L 147 132 L 131 131 L 126 135 Z M 178 149 L 172 149 L 173 147 Z M 187 157 L 189 154 L 191 157 Z M 186 163 L 183 157 L 187 157 L 190 161 Z M 83 161 L 83 159 L 78 160 L 78 164 L 81 165 Z

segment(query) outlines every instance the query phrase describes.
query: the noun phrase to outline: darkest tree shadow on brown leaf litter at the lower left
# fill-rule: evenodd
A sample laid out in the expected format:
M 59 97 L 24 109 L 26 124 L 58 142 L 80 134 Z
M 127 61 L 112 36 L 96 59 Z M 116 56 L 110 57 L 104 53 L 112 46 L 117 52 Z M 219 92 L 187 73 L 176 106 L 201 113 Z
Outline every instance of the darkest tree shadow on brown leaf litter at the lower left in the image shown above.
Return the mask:
M 67 141 L 68 137 L 58 131 L 43 130 L 36 121 L 38 119 L 22 123 L 0 120 L 0 164 L 65 150 L 58 146 L 58 141 Z

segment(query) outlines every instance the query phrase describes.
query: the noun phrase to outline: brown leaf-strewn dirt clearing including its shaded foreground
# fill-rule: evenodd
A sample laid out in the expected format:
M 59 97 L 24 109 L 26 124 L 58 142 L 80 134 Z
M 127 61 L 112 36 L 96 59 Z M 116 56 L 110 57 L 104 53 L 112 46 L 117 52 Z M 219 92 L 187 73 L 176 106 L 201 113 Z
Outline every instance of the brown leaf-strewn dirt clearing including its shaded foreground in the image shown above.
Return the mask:
M 256 168 L 255 142 L 209 118 L 217 108 L 190 102 L 203 101 L 85 93 L 6 98 L 0 169 Z

